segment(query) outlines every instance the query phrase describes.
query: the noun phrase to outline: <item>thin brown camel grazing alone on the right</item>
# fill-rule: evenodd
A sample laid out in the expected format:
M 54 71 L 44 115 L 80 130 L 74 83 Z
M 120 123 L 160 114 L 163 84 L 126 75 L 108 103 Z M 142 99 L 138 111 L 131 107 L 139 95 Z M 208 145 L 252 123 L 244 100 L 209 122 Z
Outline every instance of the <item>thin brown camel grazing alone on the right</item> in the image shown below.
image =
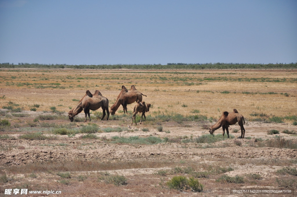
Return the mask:
M 214 134 L 214 131 L 217 130 L 218 128 L 222 127 L 223 128 L 223 137 L 225 134 L 225 129 L 227 131 L 227 135 L 229 138 L 229 125 L 234 125 L 235 123 L 238 122 L 238 125 L 240 126 L 241 129 L 241 138 L 244 138 L 244 133 L 245 133 L 245 129 L 243 127 L 245 121 L 244 121 L 244 117 L 238 113 L 238 111 L 236 109 L 233 109 L 233 112 L 223 112 L 222 116 L 220 117 L 219 121 L 212 125 L 209 128 L 209 133 L 211 135 Z

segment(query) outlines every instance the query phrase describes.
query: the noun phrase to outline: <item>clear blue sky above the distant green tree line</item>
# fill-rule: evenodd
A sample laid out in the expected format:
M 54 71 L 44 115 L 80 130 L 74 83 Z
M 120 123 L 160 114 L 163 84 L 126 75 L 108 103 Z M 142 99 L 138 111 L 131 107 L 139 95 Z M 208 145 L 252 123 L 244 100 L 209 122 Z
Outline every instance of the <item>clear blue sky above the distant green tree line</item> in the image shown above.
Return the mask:
M 296 0 L 0 0 L 0 63 L 296 63 L 296 10 Z

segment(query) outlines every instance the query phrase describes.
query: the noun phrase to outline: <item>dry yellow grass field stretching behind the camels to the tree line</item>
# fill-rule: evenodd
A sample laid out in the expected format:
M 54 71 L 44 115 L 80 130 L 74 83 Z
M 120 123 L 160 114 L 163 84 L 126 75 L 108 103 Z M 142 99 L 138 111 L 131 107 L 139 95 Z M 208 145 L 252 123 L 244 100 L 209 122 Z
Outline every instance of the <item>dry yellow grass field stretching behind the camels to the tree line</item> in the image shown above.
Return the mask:
M 125 85 L 135 85 L 153 104 L 152 112 L 219 117 L 236 108 L 244 117 L 253 112 L 285 117 L 297 113 L 297 70 L 37 70 L 1 69 L 0 106 L 7 101 L 29 110 L 67 112 L 86 90 L 100 90 L 111 106 Z M 182 107 L 184 106 L 184 107 Z M 132 110 L 134 104 L 128 105 Z M 121 107 L 120 107 L 121 109 Z M 288 121 L 288 120 L 285 120 Z

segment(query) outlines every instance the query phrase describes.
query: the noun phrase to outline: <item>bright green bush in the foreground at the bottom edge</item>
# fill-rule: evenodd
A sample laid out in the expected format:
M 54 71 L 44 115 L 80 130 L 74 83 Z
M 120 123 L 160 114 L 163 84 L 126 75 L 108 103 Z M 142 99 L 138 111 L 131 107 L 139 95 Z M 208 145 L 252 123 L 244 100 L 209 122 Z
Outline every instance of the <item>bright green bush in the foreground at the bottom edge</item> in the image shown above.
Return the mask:
M 176 176 L 166 182 L 169 189 L 176 190 L 193 190 L 194 192 L 203 191 L 203 185 L 199 183 L 198 179 L 190 177 L 189 179 L 184 176 Z

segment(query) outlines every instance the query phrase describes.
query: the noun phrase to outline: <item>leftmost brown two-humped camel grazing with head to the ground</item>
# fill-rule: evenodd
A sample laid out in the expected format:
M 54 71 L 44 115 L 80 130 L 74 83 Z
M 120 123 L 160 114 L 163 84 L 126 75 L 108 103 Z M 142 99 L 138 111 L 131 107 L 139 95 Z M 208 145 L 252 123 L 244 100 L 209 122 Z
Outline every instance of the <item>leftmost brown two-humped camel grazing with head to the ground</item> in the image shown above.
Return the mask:
M 109 117 L 109 110 L 108 110 L 108 99 L 100 93 L 99 90 L 95 90 L 95 93 L 92 94 L 89 90 L 86 91 L 85 96 L 78 102 L 78 105 L 68 112 L 68 117 L 71 122 L 76 115 L 78 115 L 81 111 L 85 112 L 85 122 L 87 121 L 87 115 L 89 116 L 89 120 L 91 121 L 90 117 L 90 109 L 97 110 L 99 108 L 103 110 L 103 116 L 101 120 L 103 120 L 105 116 L 105 110 L 107 111 L 107 120 Z

